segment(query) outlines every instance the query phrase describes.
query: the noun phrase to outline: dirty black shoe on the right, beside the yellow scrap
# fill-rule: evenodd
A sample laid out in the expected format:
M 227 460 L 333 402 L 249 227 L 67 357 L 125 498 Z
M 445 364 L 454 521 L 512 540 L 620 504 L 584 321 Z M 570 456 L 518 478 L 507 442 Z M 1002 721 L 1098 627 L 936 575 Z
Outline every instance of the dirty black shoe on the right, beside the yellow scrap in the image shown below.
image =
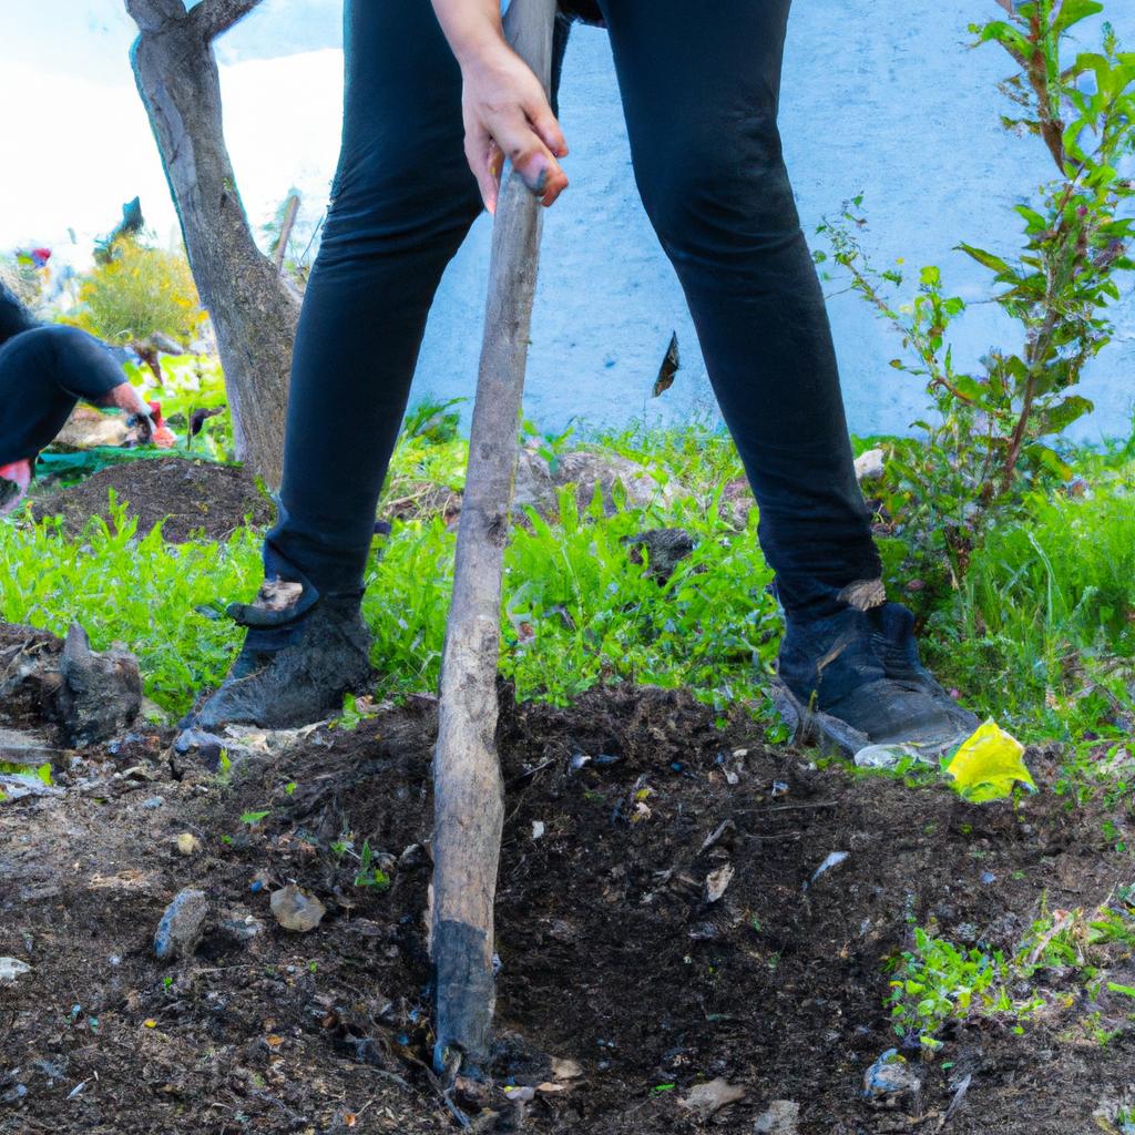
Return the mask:
M 898 604 L 790 619 L 777 672 L 801 720 L 810 711 L 824 739 L 852 754 L 866 745 L 902 743 L 943 753 L 968 737 L 977 718 L 922 665 L 913 627 Z

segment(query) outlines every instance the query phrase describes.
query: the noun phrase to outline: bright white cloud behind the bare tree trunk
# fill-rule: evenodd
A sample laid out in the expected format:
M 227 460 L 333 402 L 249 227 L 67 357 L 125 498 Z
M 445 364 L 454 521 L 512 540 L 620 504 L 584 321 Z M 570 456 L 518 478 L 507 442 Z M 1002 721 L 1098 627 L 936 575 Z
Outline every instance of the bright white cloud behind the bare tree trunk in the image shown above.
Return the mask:
M 292 185 L 320 210 L 340 132 L 340 51 L 289 54 L 221 67 L 225 132 L 237 185 L 259 226 Z M 83 262 L 93 238 L 135 195 L 165 241 L 176 215 L 133 76 L 118 82 L 31 62 L 0 68 L 0 106 L 24 107 L 5 123 L 0 249 L 47 243 Z M 77 235 L 69 245 L 68 227 Z

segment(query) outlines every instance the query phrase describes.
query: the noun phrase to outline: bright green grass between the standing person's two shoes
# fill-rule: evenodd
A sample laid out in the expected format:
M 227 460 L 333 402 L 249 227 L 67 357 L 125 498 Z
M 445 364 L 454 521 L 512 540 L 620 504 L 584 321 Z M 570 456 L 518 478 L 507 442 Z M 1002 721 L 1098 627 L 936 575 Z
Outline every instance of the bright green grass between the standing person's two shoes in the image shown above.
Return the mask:
M 698 540 L 665 585 L 621 543 L 662 524 Z M 501 663 L 518 695 L 562 704 L 625 679 L 683 686 L 718 709 L 763 707 L 779 641 L 771 573 L 755 528 L 726 531 L 714 507 L 691 502 L 607 518 L 596 501 L 580 515 L 569 491 L 555 523 L 530 516 L 505 554 Z M 436 518 L 412 521 L 371 562 L 364 614 L 388 688 L 437 683 L 454 540 Z

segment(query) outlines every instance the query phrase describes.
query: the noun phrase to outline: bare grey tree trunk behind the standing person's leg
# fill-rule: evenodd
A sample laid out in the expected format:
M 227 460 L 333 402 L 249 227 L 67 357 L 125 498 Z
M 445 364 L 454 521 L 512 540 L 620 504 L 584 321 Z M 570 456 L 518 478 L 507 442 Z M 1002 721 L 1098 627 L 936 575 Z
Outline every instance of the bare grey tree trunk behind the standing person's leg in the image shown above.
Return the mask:
M 297 296 L 257 247 L 225 145 L 213 39 L 260 0 L 126 0 L 131 62 L 225 370 L 237 456 L 280 481 Z

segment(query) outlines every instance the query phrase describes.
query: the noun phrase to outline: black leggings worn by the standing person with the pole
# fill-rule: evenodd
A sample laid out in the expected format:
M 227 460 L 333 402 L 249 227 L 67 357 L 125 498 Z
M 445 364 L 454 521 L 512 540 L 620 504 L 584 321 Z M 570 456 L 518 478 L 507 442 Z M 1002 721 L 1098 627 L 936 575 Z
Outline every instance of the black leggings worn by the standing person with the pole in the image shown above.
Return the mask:
M 781 158 L 790 0 L 600 0 L 634 176 L 760 506 L 789 613 L 880 574 Z M 296 336 L 270 575 L 361 583 L 426 317 L 480 211 L 429 0 L 346 0 L 343 149 Z

